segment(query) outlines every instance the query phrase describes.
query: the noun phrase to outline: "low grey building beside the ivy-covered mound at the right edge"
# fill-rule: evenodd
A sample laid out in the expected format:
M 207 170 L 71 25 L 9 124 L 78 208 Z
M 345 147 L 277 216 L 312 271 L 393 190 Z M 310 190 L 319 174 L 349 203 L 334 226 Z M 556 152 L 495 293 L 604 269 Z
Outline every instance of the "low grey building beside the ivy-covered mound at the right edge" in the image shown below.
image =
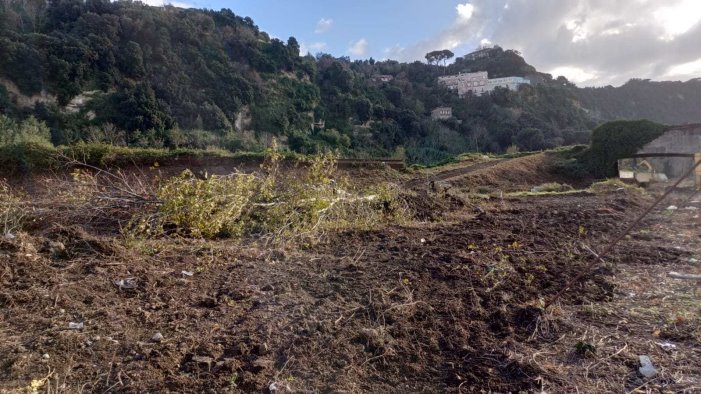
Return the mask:
M 671 126 L 632 158 L 619 160 L 619 175 L 643 183 L 679 178 L 694 165 L 695 157 L 701 159 L 701 124 Z M 701 170 L 697 169 L 696 174 L 699 187 Z

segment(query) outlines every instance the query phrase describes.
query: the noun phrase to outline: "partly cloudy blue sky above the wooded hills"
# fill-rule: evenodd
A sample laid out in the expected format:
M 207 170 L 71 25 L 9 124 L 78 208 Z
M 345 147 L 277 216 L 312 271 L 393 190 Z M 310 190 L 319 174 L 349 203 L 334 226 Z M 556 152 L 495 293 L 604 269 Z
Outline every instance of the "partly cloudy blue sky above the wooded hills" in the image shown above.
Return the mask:
M 250 16 L 302 50 L 424 61 L 480 45 L 520 51 L 579 86 L 701 77 L 701 0 L 144 0 Z

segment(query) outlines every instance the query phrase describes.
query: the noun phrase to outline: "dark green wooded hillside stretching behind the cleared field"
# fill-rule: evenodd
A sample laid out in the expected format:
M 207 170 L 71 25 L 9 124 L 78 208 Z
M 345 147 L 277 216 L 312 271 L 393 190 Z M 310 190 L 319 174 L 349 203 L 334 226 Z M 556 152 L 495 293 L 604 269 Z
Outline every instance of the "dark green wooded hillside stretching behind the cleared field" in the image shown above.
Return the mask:
M 50 127 L 54 144 L 235 151 L 278 137 L 304 153 L 331 148 L 433 162 L 466 151 L 586 142 L 589 130 L 615 118 L 701 121 L 698 81 L 578 89 L 499 47 L 448 66 L 299 51 L 294 37 L 271 38 L 227 9 L 4 0 L 0 112 L 10 119 L 2 124 L 34 116 Z M 478 70 L 533 84 L 460 99 L 437 83 L 441 75 Z M 432 121 L 439 106 L 452 107 L 454 118 Z

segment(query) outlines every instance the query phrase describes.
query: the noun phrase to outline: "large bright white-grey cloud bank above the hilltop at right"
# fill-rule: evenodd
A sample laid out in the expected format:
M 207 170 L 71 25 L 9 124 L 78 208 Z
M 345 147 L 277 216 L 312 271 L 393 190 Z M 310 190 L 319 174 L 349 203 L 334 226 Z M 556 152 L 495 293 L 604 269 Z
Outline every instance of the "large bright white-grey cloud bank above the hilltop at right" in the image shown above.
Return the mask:
M 460 56 L 487 39 L 581 85 L 701 77 L 701 0 L 470 0 L 455 12 L 452 24 L 397 60 L 439 49 Z

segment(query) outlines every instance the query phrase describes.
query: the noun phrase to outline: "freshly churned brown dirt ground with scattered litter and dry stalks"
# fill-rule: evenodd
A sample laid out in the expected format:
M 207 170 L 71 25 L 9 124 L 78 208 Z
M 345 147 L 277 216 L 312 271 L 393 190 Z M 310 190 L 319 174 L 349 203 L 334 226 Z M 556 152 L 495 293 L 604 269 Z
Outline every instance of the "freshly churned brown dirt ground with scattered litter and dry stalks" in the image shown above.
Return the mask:
M 522 159 L 489 179 L 501 184 L 499 171 Z M 666 276 L 699 272 L 688 263 L 701 256 L 698 211 L 656 211 L 543 311 L 591 258 L 582 244 L 600 250 L 649 196 L 512 197 L 475 209 L 417 193 L 411 224 L 275 248 L 125 244 L 49 215 L 0 241 L 0 392 L 31 392 L 41 379 L 50 393 L 701 390 L 699 298 L 693 283 Z M 126 278 L 133 288 L 115 285 Z M 596 351 L 578 354 L 580 341 Z M 638 374 L 639 355 L 655 378 Z

